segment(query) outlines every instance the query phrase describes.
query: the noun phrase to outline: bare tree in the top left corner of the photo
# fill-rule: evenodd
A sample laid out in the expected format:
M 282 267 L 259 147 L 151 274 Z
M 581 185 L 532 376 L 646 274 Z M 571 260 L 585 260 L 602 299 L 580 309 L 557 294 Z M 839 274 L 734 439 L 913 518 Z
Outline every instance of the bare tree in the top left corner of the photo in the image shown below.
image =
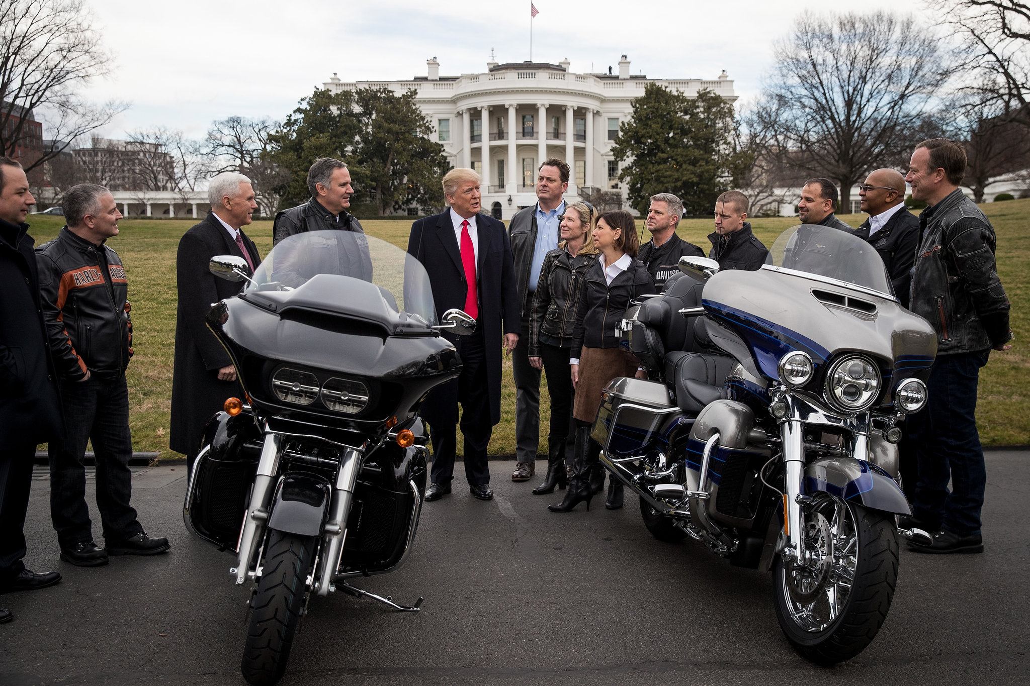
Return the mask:
M 108 64 L 82 0 L 0 1 L 0 151 L 31 171 L 108 123 L 125 105 L 79 93 Z M 30 131 L 37 115 L 45 142 Z

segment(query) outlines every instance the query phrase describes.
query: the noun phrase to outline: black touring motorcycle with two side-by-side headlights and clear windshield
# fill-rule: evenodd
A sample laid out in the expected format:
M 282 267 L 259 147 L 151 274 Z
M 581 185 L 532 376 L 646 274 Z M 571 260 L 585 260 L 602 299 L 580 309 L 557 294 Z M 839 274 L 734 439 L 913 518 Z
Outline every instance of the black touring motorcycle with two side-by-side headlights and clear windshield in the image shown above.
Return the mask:
M 390 572 L 411 548 L 427 454 L 416 412 L 461 369 L 441 331 L 475 320 L 452 310 L 438 325 L 422 265 L 360 233 L 287 238 L 252 278 L 233 256 L 211 272 L 249 282 L 207 316 L 246 397 L 208 424 L 183 519 L 237 553 L 230 572 L 252 584 L 243 676 L 274 684 L 311 594 L 418 610 L 346 580 Z

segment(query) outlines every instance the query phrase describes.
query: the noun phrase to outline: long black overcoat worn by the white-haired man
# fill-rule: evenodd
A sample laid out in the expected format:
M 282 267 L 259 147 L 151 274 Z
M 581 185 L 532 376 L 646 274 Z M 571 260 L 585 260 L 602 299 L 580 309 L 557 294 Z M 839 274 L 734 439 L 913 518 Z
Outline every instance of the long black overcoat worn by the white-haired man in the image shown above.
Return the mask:
M 240 234 L 256 267 L 261 263 L 258 248 L 242 230 Z M 215 255 L 243 257 L 214 213 L 208 213 L 204 221 L 182 236 L 175 260 L 179 302 L 175 317 L 170 446 L 191 457 L 200 447 L 204 425 L 222 408 L 226 398 L 243 397 L 238 382 L 218 381 L 218 369 L 232 364 L 232 360 L 207 328 L 204 316 L 213 303 L 237 295 L 246 282 L 227 281 L 212 275 L 208 265 Z

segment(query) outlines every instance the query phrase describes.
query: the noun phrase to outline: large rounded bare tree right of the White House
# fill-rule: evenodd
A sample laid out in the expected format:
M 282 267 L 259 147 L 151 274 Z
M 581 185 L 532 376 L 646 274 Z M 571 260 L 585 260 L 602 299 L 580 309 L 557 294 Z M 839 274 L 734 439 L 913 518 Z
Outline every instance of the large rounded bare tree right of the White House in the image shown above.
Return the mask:
M 938 39 L 912 17 L 884 11 L 804 13 L 774 48 L 757 109 L 780 160 L 851 187 L 911 144 L 946 80 Z

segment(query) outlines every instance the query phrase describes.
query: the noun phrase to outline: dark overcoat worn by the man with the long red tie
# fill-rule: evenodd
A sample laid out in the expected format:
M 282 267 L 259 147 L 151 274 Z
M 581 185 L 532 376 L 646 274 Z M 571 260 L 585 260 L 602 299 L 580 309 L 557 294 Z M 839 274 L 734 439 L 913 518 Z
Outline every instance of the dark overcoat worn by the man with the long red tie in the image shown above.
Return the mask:
M 479 281 L 479 321 L 486 347 L 486 377 L 490 394 L 490 421 L 501 421 L 501 347 L 504 333 L 521 334 L 515 262 L 504 223 L 485 214 L 476 215 L 479 250 L 476 253 Z M 461 251 L 454 237 L 450 210 L 419 219 L 411 225 L 408 252 L 414 255 L 430 275 L 437 318 L 451 308 L 465 309 L 468 293 Z M 448 338 L 454 338 L 445 334 Z M 458 348 L 460 350 L 460 347 Z M 447 416 L 434 416 L 436 410 Z M 457 382 L 448 382 L 433 391 L 422 403 L 422 417 L 433 424 L 457 423 Z

